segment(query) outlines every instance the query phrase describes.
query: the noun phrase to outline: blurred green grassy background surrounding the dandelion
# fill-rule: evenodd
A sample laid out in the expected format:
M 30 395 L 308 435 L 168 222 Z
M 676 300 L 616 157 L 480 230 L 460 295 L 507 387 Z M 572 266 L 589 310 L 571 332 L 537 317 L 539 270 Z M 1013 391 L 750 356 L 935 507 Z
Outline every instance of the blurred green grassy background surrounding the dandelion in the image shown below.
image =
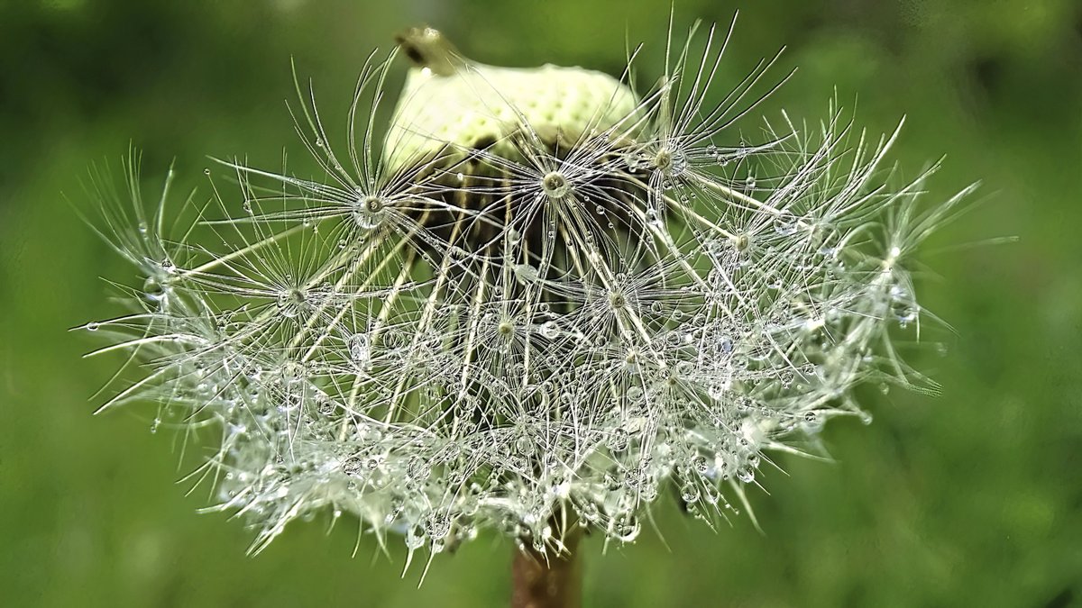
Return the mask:
M 875 423 L 823 434 L 835 463 L 780 458 L 770 495 L 711 532 L 662 506 L 660 533 L 585 544 L 586 606 L 1082 605 L 1082 5 L 1077 0 L 743 2 L 723 87 L 788 45 L 765 106 L 819 120 L 836 87 L 894 158 L 946 155 L 929 197 L 980 180 L 938 235 L 922 302 L 956 331 L 919 356 L 937 398 L 869 391 Z M 629 6 L 634 6 L 630 9 Z M 681 0 L 676 24 L 726 23 L 734 2 Z M 283 101 L 290 57 L 344 125 L 364 57 L 428 23 L 471 57 L 619 72 L 625 37 L 659 74 L 670 4 L 625 0 L 0 1 L 0 605 L 500 606 L 511 546 L 481 537 L 399 578 L 355 529 L 291 526 L 255 558 L 251 532 L 197 515 L 153 412 L 91 417 L 115 360 L 81 360 L 67 328 L 117 312 L 101 276 L 131 280 L 72 213 L 92 162 L 145 150 L 148 191 L 175 157 L 304 168 Z M 401 70 L 396 72 L 401 78 Z M 394 84 L 397 85 L 397 81 Z M 773 113 L 773 114 L 771 114 Z M 754 119 L 747 124 L 754 127 Z M 344 127 L 343 127 L 344 128 Z M 295 162 L 294 162 L 294 159 Z M 941 251 L 1004 235 L 1006 246 Z

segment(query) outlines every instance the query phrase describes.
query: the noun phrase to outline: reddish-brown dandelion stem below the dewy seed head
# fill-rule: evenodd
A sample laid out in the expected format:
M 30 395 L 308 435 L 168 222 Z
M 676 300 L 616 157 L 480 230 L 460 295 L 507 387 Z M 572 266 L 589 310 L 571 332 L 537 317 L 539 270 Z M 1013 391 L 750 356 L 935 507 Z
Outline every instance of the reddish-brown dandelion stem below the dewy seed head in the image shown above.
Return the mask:
M 566 542 L 566 541 L 565 541 Z M 532 548 L 515 550 L 511 567 L 512 608 L 579 608 L 582 577 L 575 545 L 563 555 L 538 554 Z

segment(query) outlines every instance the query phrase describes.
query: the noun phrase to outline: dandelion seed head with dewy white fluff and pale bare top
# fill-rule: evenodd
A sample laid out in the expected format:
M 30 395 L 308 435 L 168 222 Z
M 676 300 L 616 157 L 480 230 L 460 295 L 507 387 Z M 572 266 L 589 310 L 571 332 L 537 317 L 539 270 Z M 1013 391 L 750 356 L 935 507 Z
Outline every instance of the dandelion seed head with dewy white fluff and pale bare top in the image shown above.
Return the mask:
M 228 163 L 240 195 L 212 182 L 176 222 L 134 172 L 134 206 L 106 187 L 100 232 L 142 276 L 130 314 L 85 326 L 129 354 L 103 409 L 153 401 L 155 428 L 211 446 L 194 478 L 254 550 L 322 510 L 411 555 L 481 529 L 539 552 L 579 528 L 629 542 L 667 488 L 735 513 L 765 452 L 867 418 L 857 385 L 934 387 L 897 352 L 922 316 L 907 266 L 958 197 L 918 212 L 924 176 L 884 186 L 894 137 L 834 108 L 748 143 L 731 124 L 765 67 L 716 91 L 724 44 L 697 44 L 647 94 L 609 79 L 563 118 L 516 106 L 568 68 L 501 95 L 457 60 L 425 78 L 478 97 L 423 129 L 397 113 L 382 131 L 407 156 L 375 144 L 393 54 L 362 70 L 345 156 L 311 100 L 295 113 L 322 179 Z M 494 136 L 469 141 L 456 107 L 494 108 Z

